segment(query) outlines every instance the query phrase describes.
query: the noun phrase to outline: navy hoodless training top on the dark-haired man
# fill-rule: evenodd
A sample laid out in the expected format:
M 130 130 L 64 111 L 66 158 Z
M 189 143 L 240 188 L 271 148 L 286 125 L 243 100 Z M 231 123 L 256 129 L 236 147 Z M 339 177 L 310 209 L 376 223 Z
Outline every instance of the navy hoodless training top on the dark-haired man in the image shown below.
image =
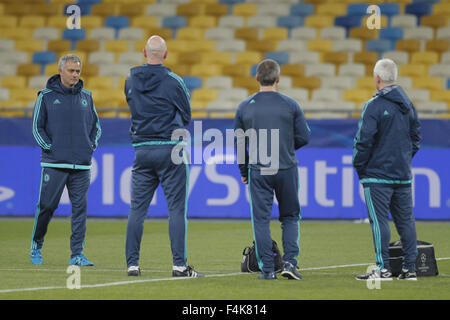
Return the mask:
M 271 153 L 272 129 L 279 129 L 279 168 L 289 169 L 298 163 L 295 150 L 308 144 L 311 130 L 306 122 L 299 104 L 292 98 L 278 92 L 257 92 L 242 101 L 236 111 L 234 129 L 267 130 L 267 154 Z M 237 135 L 236 135 L 237 136 Z M 263 138 L 264 136 L 259 136 Z M 258 138 L 258 140 L 259 140 Z M 248 176 L 248 168 L 257 169 L 268 167 L 259 161 L 249 163 L 248 144 L 246 139 L 245 164 L 239 164 L 241 176 Z M 259 142 L 258 142 L 259 143 Z M 238 142 L 239 144 L 239 142 Z M 250 146 L 251 147 L 251 146 Z

